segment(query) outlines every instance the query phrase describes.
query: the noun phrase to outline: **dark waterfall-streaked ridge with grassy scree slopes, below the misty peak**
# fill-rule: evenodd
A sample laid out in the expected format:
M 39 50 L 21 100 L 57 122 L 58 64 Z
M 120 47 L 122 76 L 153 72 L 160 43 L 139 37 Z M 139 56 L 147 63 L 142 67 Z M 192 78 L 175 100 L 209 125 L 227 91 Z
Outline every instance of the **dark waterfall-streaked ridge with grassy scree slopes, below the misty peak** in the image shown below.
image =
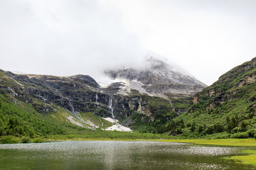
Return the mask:
M 35 130 L 38 125 L 23 120 L 23 117 L 30 117 L 32 114 L 35 121 L 46 121 L 44 125 L 55 124 L 62 127 L 60 132 L 70 126 L 129 131 L 127 127 L 148 127 L 153 122 L 153 130 L 156 130 L 159 121 L 166 123 L 167 120 L 185 112 L 188 101 L 191 100 L 167 100 L 140 94 L 134 90 L 130 91 L 129 95 L 124 95 L 118 93 L 119 86 L 119 83 L 115 83 L 103 88 L 87 75 L 55 77 L 14 74 L 0 70 L 0 103 L 8 103 L 9 107 L 17 108 L 18 112 L 14 114 L 14 118 L 31 125 L 33 134 L 38 135 L 40 130 Z M 19 111 L 26 113 L 20 114 Z M 19 134 L 18 130 L 10 131 L 11 113 L 3 111 L 2 115 L 4 128 L 0 130 L 1 133 Z M 51 129 L 55 134 L 54 129 L 58 128 Z M 152 128 L 147 131 L 152 131 Z M 51 133 L 44 130 L 40 134 L 46 132 Z

